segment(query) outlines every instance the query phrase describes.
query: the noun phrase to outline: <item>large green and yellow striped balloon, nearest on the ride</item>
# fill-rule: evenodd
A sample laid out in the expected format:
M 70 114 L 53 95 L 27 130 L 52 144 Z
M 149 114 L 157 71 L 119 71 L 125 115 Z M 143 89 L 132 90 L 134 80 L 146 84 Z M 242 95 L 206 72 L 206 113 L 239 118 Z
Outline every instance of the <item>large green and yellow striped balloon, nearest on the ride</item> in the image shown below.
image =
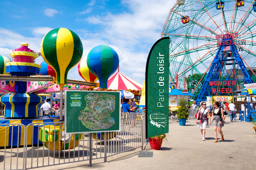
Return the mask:
M 56 28 L 48 32 L 41 42 L 44 61 L 56 72 L 57 84 L 67 84 L 68 71 L 82 57 L 83 44 L 78 35 L 66 28 Z

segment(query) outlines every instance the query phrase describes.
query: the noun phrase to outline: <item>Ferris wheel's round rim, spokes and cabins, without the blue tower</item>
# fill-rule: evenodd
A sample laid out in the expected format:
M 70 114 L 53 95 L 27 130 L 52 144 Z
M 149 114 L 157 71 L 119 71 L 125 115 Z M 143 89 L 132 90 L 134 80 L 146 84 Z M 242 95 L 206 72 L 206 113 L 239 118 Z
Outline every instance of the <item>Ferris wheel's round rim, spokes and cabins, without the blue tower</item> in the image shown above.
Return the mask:
M 183 88 L 187 77 L 187 89 L 197 96 L 219 50 L 217 37 L 225 34 L 237 35 L 233 38 L 236 49 L 255 82 L 256 1 L 177 0 L 162 32 L 162 37 L 170 37 L 170 81 L 175 83 L 178 74 Z M 239 68 L 231 68 L 230 63 L 223 67 L 239 77 Z

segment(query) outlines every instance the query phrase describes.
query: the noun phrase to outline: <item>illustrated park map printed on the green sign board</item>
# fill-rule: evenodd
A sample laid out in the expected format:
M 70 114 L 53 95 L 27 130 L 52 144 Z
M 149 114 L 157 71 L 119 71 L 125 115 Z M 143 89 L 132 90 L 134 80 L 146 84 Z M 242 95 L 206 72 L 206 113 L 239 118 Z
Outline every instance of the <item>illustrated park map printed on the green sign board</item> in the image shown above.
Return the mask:
M 108 129 L 115 124 L 111 113 L 115 110 L 116 97 L 106 93 L 88 93 L 84 97 L 86 107 L 78 120 L 90 130 Z

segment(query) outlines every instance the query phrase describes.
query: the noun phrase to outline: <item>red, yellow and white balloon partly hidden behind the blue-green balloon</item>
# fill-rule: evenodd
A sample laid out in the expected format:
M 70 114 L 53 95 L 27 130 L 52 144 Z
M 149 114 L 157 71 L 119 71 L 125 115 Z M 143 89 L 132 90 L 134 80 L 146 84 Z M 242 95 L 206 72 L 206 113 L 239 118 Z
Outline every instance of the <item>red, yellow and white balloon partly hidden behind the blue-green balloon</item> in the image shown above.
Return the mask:
M 92 74 L 87 66 L 87 56 L 83 57 L 78 63 L 78 73 L 87 82 L 96 82 L 98 78 Z

